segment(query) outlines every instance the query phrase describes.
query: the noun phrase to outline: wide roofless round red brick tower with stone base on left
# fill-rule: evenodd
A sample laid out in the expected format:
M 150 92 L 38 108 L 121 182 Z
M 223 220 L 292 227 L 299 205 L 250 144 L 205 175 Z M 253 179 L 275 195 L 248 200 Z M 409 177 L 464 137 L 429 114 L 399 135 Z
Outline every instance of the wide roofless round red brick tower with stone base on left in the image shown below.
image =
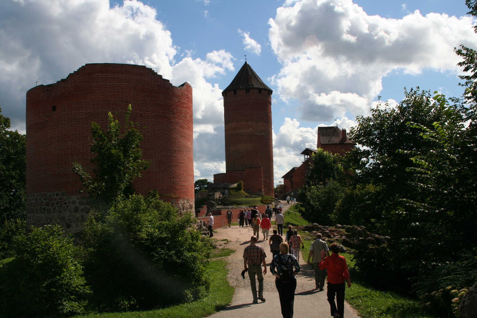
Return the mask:
M 192 87 L 173 86 L 145 66 L 86 64 L 66 79 L 27 92 L 29 225 L 58 224 L 66 233 L 83 228 L 89 208 L 87 195 L 78 194 L 82 184 L 73 162 L 93 175 L 91 123 L 106 129 L 111 112 L 124 127 L 128 104 L 150 164 L 134 181 L 136 193 L 156 189 L 179 210 L 194 209 Z

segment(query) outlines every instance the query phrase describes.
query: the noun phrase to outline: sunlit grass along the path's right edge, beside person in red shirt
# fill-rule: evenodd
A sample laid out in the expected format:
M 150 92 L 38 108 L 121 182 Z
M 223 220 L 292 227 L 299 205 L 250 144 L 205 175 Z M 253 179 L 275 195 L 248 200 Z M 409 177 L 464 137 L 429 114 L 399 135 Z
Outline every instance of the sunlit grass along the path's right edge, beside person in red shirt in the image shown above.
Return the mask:
M 301 237 L 308 237 L 302 231 Z M 303 261 L 306 265 L 311 242 L 313 240 L 303 240 L 305 248 L 303 249 Z M 330 252 L 331 253 L 331 252 Z M 340 253 L 346 258 L 350 272 L 353 274 L 353 254 Z M 367 286 L 363 281 L 353 279 L 351 276 L 351 288 L 346 287 L 345 299 L 350 305 L 358 310 L 363 318 L 430 318 L 423 313 L 417 306 L 417 301 L 395 294 L 393 292 L 380 291 Z

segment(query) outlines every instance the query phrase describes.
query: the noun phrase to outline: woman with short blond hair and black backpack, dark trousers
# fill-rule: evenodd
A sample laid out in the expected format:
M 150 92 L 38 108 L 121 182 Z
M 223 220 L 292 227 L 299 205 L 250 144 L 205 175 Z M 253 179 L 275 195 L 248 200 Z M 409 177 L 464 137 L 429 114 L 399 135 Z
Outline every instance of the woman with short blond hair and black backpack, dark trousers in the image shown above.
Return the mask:
M 293 302 L 300 264 L 293 254 L 288 253 L 288 244 L 280 244 L 280 254 L 275 255 L 270 264 L 270 273 L 275 275 L 275 286 L 280 297 L 281 315 L 283 318 L 293 318 Z

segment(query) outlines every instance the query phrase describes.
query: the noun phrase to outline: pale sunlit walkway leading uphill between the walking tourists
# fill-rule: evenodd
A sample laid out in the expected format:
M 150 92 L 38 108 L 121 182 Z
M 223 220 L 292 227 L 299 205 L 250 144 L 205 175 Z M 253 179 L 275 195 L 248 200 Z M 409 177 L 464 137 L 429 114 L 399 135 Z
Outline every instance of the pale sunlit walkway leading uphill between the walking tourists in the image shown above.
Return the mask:
M 283 203 L 283 202 L 282 202 Z M 291 205 L 283 203 L 283 212 Z M 237 216 L 234 216 L 236 218 Z M 285 215 L 286 219 L 286 215 Z M 275 217 L 272 217 L 272 223 Z M 274 226 L 272 225 L 272 228 Z M 232 226 L 231 228 L 223 227 L 217 229 L 214 238 L 218 239 L 218 243 L 223 247 L 233 248 L 237 252 L 227 257 L 228 260 L 228 281 L 230 285 L 235 287 L 235 294 L 232 303 L 222 311 L 210 316 L 213 318 L 280 318 L 280 299 L 278 297 L 277 288 L 275 287 L 275 277 L 270 274 L 269 267 L 271 261 L 270 247 L 267 241 L 262 241 L 263 237 L 260 232 L 259 245 L 265 249 L 267 254 L 267 274 L 264 276 L 264 294 L 263 297 L 267 300 L 262 303 L 252 304 L 252 292 L 250 289 L 249 276 L 246 274 L 245 279 L 240 276 L 243 270 L 243 250 L 250 244 L 250 236 L 253 231 L 250 227 Z M 271 235 L 270 230 L 270 235 Z M 220 241 L 221 239 L 228 239 L 227 241 Z M 305 251 L 305 256 L 300 257 L 301 271 L 297 275 L 297 289 L 295 292 L 294 317 L 297 318 L 325 318 L 331 317 L 330 305 L 326 300 L 326 284 L 325 290 L 319 292 L 315 287 L 313 267 L 306 265 L 306 258 L 308 251 Z M 258 283 L 257 283 L 258 288 Z M 348 303 L 345 303 L 344 309 L 345 318 L 359 318 L 356 311 L 351 308 Z

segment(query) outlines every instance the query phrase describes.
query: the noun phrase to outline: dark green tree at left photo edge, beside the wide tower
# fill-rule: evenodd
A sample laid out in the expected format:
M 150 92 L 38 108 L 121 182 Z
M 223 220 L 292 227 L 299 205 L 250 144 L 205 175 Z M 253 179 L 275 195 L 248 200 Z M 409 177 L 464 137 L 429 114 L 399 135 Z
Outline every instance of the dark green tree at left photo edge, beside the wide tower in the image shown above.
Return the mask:
M 0 108 L 0 220 L 26 217 L 26 136 L 9 128 Z

